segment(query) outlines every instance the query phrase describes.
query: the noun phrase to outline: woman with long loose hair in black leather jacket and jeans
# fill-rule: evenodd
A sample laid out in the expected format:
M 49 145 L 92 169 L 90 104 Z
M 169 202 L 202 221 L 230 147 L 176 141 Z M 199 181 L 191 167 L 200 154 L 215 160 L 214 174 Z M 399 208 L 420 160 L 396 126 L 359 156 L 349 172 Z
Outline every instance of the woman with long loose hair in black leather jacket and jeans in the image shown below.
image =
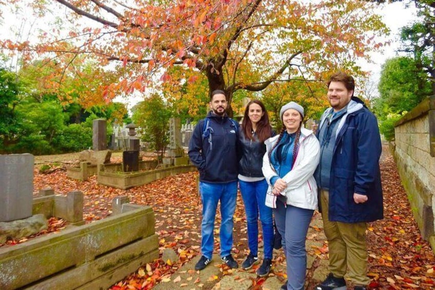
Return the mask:
M 272 209 L 265 205 L 268 184 L 264 179 L 262 166 L 266 152 L 264 141 L 272 136 L 272 127 L 263 103 L 252 100 L 245 109 L 240 132 L 242 159 L 239 162 L 239 184 L 245 204 L 248 224 L 248 245 L 250 253 L 243 262 L 243 269 L 250 269 L 258 259 L 258 218 L 263 228 L 264 260 L 256 274 L 269 274 L 272 266 L 273 219 Z

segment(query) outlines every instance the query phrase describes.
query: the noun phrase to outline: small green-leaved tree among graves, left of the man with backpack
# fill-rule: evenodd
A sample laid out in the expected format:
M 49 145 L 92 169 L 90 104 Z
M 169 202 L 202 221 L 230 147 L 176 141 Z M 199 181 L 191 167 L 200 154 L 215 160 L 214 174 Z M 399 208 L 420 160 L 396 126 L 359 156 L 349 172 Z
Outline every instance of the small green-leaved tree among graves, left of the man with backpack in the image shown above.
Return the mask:
M 132 120 L 141 127 L 142 141 L 157 151 L 157 159 L 162 162 L 166 146 L 169 144 L 169 119 L 172 112 L 159 94 L 152 94 L 133 109 Z

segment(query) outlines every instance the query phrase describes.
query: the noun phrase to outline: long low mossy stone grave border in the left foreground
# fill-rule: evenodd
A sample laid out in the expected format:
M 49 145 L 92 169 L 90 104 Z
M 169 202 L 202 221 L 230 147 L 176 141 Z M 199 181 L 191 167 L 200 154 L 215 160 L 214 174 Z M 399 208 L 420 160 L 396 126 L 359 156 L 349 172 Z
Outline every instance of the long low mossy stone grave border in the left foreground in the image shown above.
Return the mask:
M 107 288 L 137 269 L 138 262 L 159 257 L 154 227 L 154 213 L 144 206 L 84 226 L 69 227 L 55 235 L 1 247 L 0 288 L 31 285 L 37 289 L 94 289 L 95 285 L 103 285 L 99 284 L 102 281 L 108 283 L 104 284 Z M 130 263 L 135 264 L 134 269 Z M 95 282 L 98 279 L 101 280 Z

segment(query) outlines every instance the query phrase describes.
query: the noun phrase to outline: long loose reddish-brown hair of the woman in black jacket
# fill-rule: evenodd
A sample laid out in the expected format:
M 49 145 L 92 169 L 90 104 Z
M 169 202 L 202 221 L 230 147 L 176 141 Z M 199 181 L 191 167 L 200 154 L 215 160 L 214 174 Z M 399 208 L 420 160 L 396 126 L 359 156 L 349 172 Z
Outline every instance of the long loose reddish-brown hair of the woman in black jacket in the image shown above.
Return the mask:
M 249 115 L 248 115 L 249 106 L 252 104 L 259 105 L 261 107 L 262 111 L 264 112 L 260 121 L 257 123 L 257 129 L 255 131 L 259 141 L 264 142 L 266 139 L 268 139 L 268 138 L 270 138 L 270 136 L 272 136 L 272 127 L 270 126 L 270 123 L 269 123 L 269 115 L 267 114 L 266 107 L 264 106 L 264 104 L 261 101 L 252 100 L 248 103 L 248 105 L 246 105 L 245 114 L 244 114 L 243 122 L 242 122 L 242 130 L 243 130 L 243 133 L 245 134 L 246 139 L 253 140 L 252 123 L 251 123 L 251 120 L 249 119 Z

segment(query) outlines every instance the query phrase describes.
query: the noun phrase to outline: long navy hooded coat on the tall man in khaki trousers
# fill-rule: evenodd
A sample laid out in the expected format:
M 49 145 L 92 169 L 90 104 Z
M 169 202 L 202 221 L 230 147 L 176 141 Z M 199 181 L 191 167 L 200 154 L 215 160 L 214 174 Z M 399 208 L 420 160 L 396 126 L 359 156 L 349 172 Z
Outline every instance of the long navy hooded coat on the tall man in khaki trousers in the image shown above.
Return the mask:
M 323 113 L 318 133 L 327 126 L 325 119 L 331 110 Z M 378 122 L 360 99 L 352 97 L 338 126 L 330 171 L 329 220 L 357 223 L 382 219 Z M 366 195 L 368 200 L 355 203 L 354 192 Z

